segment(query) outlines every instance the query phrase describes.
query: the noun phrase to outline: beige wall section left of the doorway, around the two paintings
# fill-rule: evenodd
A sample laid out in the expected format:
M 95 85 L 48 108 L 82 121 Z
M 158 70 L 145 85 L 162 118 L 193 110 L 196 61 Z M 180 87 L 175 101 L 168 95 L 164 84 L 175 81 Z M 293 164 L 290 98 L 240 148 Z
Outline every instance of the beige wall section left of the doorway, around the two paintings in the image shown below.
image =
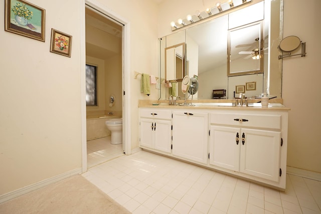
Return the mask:
M 80 4 L 30 2 L 46 10 L 45 42 L 5 32 L 0 16 L 0 195 L 81 171 Z M 73 36 L 71 58 L 49 52 L 51 28 Z

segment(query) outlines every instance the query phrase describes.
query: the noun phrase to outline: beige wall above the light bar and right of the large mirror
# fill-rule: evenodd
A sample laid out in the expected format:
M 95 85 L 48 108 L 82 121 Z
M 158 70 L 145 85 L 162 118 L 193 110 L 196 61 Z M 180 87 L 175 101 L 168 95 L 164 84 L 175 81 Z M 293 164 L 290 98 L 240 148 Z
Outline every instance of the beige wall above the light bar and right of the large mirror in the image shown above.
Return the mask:
M 207 0 L 165 0 L 159 5 L 158 37 L 172 33 L 171 21 L 185 18 L 196 10 L 204 11 L 209 3 Z M 282 98 L 285 106 L 291 108 L 287 165 L 321 173 L 320 9 L 319 0 L 307 0 L 303 5 L 300 0 L 284 0 L 283 37 L 298 36 L 306 42 L 307 55 L 283 60 Z

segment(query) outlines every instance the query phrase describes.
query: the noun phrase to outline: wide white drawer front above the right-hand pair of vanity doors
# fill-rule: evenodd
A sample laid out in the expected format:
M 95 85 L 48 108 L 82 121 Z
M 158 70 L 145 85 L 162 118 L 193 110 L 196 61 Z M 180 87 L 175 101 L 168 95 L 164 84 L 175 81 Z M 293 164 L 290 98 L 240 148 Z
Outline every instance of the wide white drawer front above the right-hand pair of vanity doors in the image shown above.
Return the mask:
M 281 129 L 281 115 L 211 113 L 211 124 Z

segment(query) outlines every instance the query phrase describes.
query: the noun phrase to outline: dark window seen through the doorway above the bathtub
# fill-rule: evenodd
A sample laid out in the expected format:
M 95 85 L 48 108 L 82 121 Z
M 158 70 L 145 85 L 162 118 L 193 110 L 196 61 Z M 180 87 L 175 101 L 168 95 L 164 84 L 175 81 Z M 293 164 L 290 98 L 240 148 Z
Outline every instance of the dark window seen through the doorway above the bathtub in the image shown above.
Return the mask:
M 97 106 L 97 67 L 86 65 L 86 105 Z

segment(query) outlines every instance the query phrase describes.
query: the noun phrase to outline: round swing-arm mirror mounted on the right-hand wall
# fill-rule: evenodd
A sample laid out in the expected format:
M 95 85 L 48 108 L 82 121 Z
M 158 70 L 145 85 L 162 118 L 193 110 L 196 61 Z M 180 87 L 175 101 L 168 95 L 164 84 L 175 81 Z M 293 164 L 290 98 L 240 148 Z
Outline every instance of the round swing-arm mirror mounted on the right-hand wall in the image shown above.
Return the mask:
M 293 54 L 291 55 L 291 52 L 297 50 L 301 45 L 301 54 Z M 280 52 L 282 52 L 282 55 L 279 55 L 279 59 L 285 58 L 285 57 L 292 57 L 292 56 L 298 56 L 301 55 L 301 57 L 305 57 L 305 43 L 302 43 L 302 41 L 296 37 L 296 36 L 288 36 L 285 37 L 281 42 L 280 45 L 277 47 Z

